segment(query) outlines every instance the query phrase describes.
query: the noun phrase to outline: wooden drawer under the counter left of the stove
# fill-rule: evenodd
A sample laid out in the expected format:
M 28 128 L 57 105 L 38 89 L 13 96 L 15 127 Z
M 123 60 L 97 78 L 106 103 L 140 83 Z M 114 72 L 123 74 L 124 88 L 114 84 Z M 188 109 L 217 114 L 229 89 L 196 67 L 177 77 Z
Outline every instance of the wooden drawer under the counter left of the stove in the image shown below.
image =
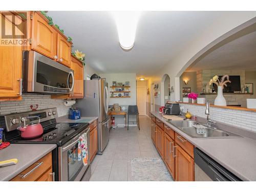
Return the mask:
M 18 174 L 11 181 L 36 181 L 51 167 L 52 152 L 36 161 L 33 165 L 25 169 L 22 173 Z M 28 175 L 26 176 L 26 174 Z

